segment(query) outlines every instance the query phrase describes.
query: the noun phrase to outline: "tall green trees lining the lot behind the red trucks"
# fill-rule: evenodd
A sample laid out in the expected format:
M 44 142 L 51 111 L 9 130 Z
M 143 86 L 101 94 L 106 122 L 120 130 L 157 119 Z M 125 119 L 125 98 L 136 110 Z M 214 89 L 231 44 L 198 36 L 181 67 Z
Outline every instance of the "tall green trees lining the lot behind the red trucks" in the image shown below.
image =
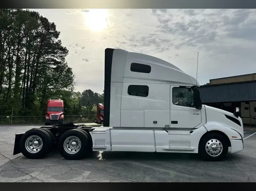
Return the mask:
M 69 51 L 56 25 L 38 12 L 0 9 L 0 116 L 42 116 L 47 100 L 64 101 L 66 115 L 92 111 L 104 94 L 74 92 Z M 85 107 L 83 107 L 85 106 Z

